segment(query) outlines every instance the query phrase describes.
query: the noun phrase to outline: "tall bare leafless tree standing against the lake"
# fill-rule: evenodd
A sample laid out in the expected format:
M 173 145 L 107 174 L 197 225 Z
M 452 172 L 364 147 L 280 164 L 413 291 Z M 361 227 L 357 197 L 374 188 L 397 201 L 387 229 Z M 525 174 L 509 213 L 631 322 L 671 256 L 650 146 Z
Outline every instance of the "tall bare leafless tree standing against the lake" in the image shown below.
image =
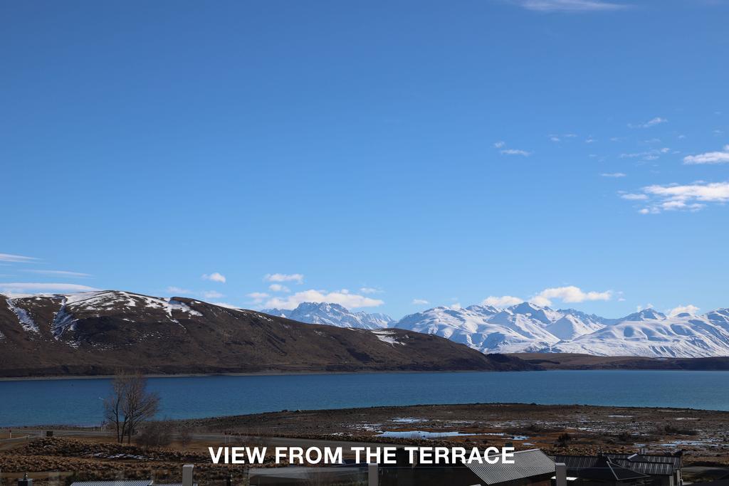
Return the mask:
M 114 424 L 117 442 L 131 443 L 136 428 L 157 414 L 160 397 L 147 391 L 147 379 L 140 373 L 117 372 L 112 393 L 104 400 L 104 416 Z

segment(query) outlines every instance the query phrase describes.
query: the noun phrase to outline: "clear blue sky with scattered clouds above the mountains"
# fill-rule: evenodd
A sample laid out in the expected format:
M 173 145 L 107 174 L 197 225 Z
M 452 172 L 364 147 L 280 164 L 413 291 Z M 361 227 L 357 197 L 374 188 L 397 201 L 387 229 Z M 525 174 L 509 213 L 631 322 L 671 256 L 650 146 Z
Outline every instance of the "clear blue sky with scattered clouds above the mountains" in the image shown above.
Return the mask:
M 729 306 L 728 15 L 4 2 L 0 291 Z

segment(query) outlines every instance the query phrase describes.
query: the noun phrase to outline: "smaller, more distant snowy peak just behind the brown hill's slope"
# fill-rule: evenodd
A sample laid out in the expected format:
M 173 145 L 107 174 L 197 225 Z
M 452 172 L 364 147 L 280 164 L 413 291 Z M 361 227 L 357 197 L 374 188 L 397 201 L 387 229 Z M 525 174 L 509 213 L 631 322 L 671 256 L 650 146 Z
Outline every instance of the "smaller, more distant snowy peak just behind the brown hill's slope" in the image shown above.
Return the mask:
M 265 309 L 261 312 L 307 324 L 327 324 L 358 329 L 383 329 L 394 322 L 386 314 L 353 313 L 342 305 L 329 302 L 302 302 L 293 310 Z

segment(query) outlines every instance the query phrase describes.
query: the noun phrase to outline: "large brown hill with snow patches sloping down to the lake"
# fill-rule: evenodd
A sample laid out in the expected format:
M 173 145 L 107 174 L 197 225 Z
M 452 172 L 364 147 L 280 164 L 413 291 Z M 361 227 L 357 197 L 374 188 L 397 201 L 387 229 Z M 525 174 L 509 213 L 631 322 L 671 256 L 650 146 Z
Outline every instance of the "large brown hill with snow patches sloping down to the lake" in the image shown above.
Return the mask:
M 429 334 L 302 324 L 123 291 L 0 295 L 0 376 L 538 369 Z

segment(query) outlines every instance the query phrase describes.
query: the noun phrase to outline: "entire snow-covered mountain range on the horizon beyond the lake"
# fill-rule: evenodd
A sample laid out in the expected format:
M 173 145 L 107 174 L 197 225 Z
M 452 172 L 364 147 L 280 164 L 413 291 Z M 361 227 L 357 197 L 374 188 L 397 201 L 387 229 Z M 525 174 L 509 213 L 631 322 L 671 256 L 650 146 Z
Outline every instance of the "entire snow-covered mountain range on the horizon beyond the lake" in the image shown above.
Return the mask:
M 447 337 L 483 353 L 586 353 L 596 356 L 698 358 L 729 356 L 729 308 L 666 316 L 645 309 L 608 319 L 574 309 L 523 302 L 511 307 L 434 307 L 394 321 L 306 302 L 295 310 L 265 310 L 296 321 L 381 329 L 394 327 Z

